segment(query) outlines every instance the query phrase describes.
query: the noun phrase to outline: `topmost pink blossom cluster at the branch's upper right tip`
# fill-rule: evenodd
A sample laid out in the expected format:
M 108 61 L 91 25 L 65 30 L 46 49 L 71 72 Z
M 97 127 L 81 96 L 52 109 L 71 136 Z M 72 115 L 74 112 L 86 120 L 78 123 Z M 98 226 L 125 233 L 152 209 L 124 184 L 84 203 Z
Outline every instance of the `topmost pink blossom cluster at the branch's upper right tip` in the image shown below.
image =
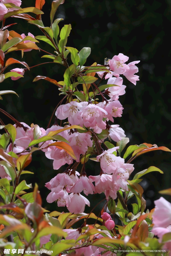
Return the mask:
M 115 55 L 111 60 L 108 60 L 108 69 L 112 70 L 112 72 L 107 73 L 105 79 L 112 78 L 113 76 L 118 78 L 120 74 L 123 74 L 130 82 L 136 85 L 136 81 L 139 81 L 139 76 L 135 75 L 135 73 L 138 72 L 138 68 L 135 66 L 135 64 L 139 63 L 140 61 L 132 61 L 128 64 L 125 64 L 128 59 L 129 57 L 123 55 L 122 53 L 119 53 L 118 55 Z M 105 64 L 107 62 L 105 62 Z M 104 73 L 105 71 L 97 72 L 100 78 L 104 76 Z

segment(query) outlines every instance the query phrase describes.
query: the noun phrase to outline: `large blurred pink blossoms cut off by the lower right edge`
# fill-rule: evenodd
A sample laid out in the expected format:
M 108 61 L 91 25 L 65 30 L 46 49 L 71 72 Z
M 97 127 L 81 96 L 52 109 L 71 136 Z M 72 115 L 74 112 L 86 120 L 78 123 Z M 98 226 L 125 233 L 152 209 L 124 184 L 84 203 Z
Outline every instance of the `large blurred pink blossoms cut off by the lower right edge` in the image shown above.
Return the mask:
M 162 242 L 162 237 L 166 233 L 171 232 L 171 204 L 160 197 L 158 200 L 154 201 L 155 210 L 153 213 L 153 229 L 152 232 L 155 236 L 159 237 L 159 242 Z M 170 250 L 169 256 L 171 255 L 171 242 L 165 243 L 164 248 Z

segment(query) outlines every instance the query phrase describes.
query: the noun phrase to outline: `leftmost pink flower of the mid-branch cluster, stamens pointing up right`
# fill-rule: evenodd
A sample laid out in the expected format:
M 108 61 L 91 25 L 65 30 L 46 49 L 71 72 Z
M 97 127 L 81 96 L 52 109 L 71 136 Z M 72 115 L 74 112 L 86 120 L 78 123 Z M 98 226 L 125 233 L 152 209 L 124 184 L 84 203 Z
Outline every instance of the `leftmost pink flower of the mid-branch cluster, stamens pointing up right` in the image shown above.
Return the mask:
M 79 124 L 81 121 L 81 117 L 78 117 L 78 107 L 82 108 L 82 105 L 76 101 L 71 101 L 70 103 L 59 106 L 56 110 L 55 115 L 60 120 L 68 118 L 68 122 L 71 125 Z

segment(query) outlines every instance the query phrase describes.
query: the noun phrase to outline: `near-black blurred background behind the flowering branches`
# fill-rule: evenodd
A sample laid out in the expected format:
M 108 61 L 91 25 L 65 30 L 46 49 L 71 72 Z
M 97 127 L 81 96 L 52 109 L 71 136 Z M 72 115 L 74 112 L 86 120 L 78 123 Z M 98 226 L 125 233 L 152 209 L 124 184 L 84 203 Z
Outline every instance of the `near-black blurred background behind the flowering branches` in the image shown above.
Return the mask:
M 45 26 L 50 26 L 49 14 L 51 2 L 47 1 L 43 6 L 42 20 Z M 22 8 L 35 6 L 34 0 L 23 1 Z M 170 41 L 168 40 L 168 27 L 171 19 L 171 1 L 109 1 L 109 0 L 65 0 L 60 5 L 56 18 L 63 18 L 59 23 L 62 28 L 64 24 L 71 24 L 72 30 L 68 37 L 67 46 L 81 50 L 83 47 L 91 47 L 91 55 L 87 65 L 93 62 L 103 65 L 104 58 L 112 58 L 119 52 L 129 56 L 129 62 L 140 60 L 139 79 L 134 86 L 127 79 L 124 84 L 127 86 L 126 94 L 120 96 L 124 110 L 122 118 L 116 118 L 115 124 L 119 124 L 124 130 L 130 142 L 128 145 L 140 144 L 143 142 L 157 144 L 171 148 L 170 143 Z M 34 14 L 32 15 L 34 16 Z M 31 32 L 34 36 L 43 35 L 36 26 L 27 23 L 26 20 L 8 18 L 5 25 L 17 22 L 9 28 L 17 33 L 27 34 Z M 27 33 L 26 33 L 27 31 Z M 50 53 L 54 49 L 43 41 L 38 46 Z M 21 51 L 8 54 L 8 57 L 17 58 L 28 63 L 29 67 L 39 63 L 48 62 L 50 59 L 41 59 L 44 53 L 32 50 L 25 52 L 23 59 Z M 16 66 L 15 67 L 19 67 Z M 10 66 L 10 69 L 14 67 Z M 37 75 L 48 76 L 57 81 L 63 80 L 65 68 L 57 63 L 49 63 L 38 66 L 27 71 L 24 78 L 17 81 L 6 79 L 1 84 L 1 90 L 14 90 L 15 95 L 4 95 L 1 101 L 1 108 L 12 114 L 18 121 L 38 124 L 46 129 L 52 112 L 62 95 L 58 95 L 58 87 L 44 80 L 32 82 Z M 1 118 L 7 124 L 10 122 L 5 116 Z M 54 118 L 51 124 L 53 124 Z M 158 191 L 171 187 L 170 184 L 170 153 L 155 151 L 139 156 L 134 162 L 134 173 L 154 165 L 164 174 L 154 172 L 144 176 L 140 183 L 144 188 L 144 198 L 147 201 L 147 208 L 154 207 L 153 201 L 160 195 Z M 88 175 L 98 175 L 98 163 L 89 161 L 86 164 Z M 57 204 L 47 204 L 46 197 L 49 190 L 44 187 L 45 183 L 53 178 L 58 172 L 65 168 L 53 170 L 52 161 L 44 156 L 43 152 L 35 152 L 33 161 L 28 169 L 34 175 L 23 175 L 32 184 L 38 183 L 44 202 L 48 210 L 65 210 L 58 208 Z M 134 175 L 133 175 L 134 176 Z M 104 198 L 104 194 L 90 195 L 91 208 L 95 202 Z M 165 197 L 170 200 L 169 197 Z M 99 213 L 102 207 L 100 204 L 95 213 Z M 85 211 L 89 211 L 88 207 Z

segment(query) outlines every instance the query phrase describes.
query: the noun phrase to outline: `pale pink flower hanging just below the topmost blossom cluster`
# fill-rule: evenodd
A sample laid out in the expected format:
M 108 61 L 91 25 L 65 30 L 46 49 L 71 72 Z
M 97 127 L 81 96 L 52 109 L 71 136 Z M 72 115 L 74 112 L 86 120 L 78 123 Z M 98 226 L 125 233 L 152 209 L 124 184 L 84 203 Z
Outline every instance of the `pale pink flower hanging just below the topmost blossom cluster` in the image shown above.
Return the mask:
M 119 95 L 125 94 L 126 86 L 123 85 L 122 83 L 123 83 L 123 78 L 122 77 L 112 77 L 112 78 L 108 79 L 107 84 L 118 85 L 118 86 L 113 86 L 113 87 L 106 88 L 105 91 L 109 92 L 109 97 L 110 98 L 116 96 L 115 100 L 118 100 Z

